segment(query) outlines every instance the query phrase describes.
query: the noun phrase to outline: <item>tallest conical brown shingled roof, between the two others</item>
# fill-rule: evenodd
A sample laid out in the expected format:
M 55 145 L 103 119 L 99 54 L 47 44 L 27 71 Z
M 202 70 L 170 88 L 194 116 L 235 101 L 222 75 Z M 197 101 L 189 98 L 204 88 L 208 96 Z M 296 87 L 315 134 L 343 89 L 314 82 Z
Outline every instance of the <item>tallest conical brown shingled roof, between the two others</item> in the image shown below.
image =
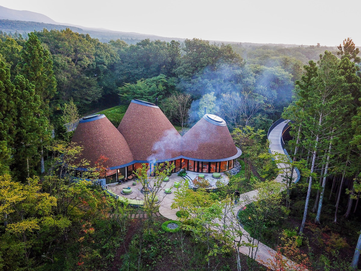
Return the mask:
M 153 103 L 132 100 L 118 130 L 137 162 L 164 162 L 182 154 L 181 135 Z

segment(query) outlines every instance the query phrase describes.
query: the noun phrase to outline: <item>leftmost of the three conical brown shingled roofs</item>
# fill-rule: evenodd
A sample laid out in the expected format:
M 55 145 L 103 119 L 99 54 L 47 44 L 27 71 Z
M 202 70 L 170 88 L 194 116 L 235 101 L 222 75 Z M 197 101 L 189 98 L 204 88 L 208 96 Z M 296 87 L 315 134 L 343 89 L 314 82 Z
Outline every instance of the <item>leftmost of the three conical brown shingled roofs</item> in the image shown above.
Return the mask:
M 111 169 L 125 167 L 133 161 L 125 138 L 103 114 L 81 119 L 71 142 L 83 146 L 80 159 L 88 160 L 88 167 L 93 167 L 100 155 L 109 158 L 105 167 Z

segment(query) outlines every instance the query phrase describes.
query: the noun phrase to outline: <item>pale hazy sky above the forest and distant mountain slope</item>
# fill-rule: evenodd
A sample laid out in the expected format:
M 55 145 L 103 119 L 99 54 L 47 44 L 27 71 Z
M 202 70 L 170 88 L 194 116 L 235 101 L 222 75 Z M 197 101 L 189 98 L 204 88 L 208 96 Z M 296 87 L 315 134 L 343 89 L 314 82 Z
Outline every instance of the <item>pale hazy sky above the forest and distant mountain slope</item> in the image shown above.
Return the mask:
M 56 4 L 55 4 L 56 3 Z M 325 0 L 0 0 L 61 23 L 177 38 L 361 46 L 361 1 Z

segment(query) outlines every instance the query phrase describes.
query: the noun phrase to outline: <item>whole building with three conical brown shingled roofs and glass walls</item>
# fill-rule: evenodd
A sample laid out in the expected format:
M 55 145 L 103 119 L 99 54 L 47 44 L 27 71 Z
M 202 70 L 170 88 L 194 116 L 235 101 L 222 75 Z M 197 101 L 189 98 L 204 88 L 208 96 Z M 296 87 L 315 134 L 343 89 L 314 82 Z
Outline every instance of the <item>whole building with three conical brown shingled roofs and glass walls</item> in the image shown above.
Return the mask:
M 103 114 L 79 121 L 72 142 L 82 146 L 81 157 L 94 167 L 100 155 L 105 163 L 105 183 L 128 178 L 145 163 L 154 175 L 156 163 L 173 163 L 173 172 L 186 169 L 200 173 L 227 171 L 234 167 L 242 151 L 237 148 L 226 122 L 205 114 L 181 136 L 161 109 L 153 103 L 131 101 L 118 129 Z M 78 168 L 78 173 L 87 168 Z

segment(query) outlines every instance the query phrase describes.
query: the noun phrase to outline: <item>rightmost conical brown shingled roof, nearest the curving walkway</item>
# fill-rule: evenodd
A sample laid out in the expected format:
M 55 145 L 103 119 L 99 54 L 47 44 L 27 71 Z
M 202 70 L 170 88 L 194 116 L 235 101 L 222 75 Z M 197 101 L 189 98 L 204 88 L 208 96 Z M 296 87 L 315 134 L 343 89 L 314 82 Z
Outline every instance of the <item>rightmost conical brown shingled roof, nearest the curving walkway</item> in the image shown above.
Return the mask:
M 204 115 L 183 135 L 182 154 L 190 159 L 221 161 L 236 158 L 238 152 L 226 122 L 216 115 Z

